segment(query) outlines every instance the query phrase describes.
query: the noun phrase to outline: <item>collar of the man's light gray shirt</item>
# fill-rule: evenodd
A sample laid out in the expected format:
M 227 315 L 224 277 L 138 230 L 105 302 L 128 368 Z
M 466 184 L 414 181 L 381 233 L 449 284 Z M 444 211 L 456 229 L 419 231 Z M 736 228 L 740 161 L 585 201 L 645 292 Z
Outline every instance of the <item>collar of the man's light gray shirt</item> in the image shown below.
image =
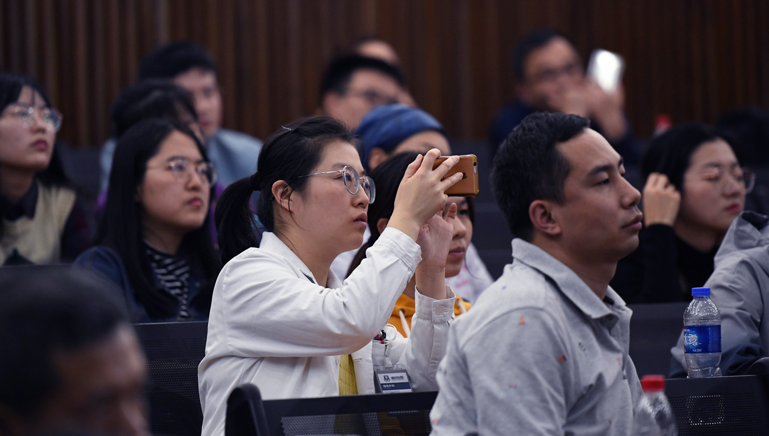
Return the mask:
M 566 298 L 588 317 L 598 319 L 609 315 L 618 316 L 609 305 L 619 311 L 624 308 L 625 302 L 611 287 L 606 289 L 608 298 L 601 301 L 571 268 L 549 255 L 547 251 L 521 238 L 513 239 L 512 245 L 514 261 L 521 261 L 551 278 Z

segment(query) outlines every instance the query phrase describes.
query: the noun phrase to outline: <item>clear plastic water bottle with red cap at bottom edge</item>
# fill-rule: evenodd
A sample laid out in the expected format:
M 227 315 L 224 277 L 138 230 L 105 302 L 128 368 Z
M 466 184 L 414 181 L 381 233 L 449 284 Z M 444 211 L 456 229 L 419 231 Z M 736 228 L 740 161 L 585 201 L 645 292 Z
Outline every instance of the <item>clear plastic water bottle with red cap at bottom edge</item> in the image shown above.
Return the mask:
M 634 436 L 678 436 L 673 409 L 665 396 L 665 378 L 644 375 L 641 388 L 644 396 L 635 413 Z

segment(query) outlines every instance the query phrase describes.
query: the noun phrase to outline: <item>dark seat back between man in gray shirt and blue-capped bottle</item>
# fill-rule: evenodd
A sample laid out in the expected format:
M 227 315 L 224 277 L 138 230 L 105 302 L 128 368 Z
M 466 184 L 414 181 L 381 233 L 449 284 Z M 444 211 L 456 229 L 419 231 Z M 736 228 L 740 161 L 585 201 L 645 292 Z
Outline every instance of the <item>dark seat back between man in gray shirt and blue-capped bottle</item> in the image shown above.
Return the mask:
M 638 376 L 664 374 L 671 363 L 671 348 L 684 329 L 684 311 L 689 303 L 651 303 L 628 305 L 630 320 L 630 357 Z

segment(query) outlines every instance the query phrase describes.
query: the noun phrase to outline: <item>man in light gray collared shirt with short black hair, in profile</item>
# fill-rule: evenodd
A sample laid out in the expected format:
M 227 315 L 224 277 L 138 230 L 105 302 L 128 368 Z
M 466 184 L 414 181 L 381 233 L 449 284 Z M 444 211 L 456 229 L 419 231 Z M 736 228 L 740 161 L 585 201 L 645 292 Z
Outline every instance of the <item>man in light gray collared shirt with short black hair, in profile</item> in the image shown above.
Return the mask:
M 641 229 L 623 174 L 577 115 L 529 115 L 504 140 L 491 182 L 513 261 L 451 326 L 432 434 L 632 434 L 631 311 L 608 285 Z

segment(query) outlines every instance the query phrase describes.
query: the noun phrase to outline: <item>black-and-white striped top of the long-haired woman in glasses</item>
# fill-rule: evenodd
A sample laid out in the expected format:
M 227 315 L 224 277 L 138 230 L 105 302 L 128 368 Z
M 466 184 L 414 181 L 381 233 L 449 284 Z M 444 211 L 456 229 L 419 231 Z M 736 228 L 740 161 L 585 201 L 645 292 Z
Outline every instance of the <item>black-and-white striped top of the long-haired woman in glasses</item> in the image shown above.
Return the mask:
M 155 277 L 158 278 L 161 288 L 173 295 L 179 301 L 178 321 L 190 318 L 189 312 L 189 277 L 190 265 L 184 258 L 167 255 L 158 251 L 145 242 L 147 257 L 149 258 Z

